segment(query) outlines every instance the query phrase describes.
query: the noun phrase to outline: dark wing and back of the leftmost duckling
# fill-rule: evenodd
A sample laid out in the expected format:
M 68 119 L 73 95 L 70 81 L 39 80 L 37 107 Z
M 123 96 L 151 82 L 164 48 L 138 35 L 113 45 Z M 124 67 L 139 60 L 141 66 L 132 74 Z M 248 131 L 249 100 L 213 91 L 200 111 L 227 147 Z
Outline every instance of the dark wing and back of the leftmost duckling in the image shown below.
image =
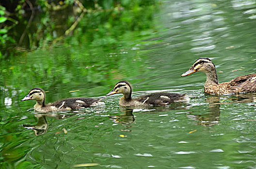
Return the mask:
M 58 109 L 66 109 L 70 108 L 74 109 L 82 109 L 87 108 L 90 106 L 96 105 L 101 99 L 94 99 L 94 98 L 68 98 L 56 101 L 51 104 L 51 106 L 55 106 Z

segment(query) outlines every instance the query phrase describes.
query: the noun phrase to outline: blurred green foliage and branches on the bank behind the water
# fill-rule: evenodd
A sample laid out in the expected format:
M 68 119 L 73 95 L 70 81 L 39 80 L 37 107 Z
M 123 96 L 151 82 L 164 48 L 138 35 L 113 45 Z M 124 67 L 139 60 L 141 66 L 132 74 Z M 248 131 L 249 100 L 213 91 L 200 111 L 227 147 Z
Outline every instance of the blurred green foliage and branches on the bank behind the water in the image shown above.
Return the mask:
M 99 45 L 117 48 L 120 46 L 117 42 L 125 32 L 151 28 L 156 3 L 155 0 L 64 0 L 49 4 L 46 0 L 37 0 L 28 4 L 19 0 L 15 7 L 18 22 L 2 15 L 5 8 L 0 6 L 0 24 L 3 27 L 0 29 L 3 35 L 0 51 L 4 56 L 14 56 L 16 46 L 35 50 L 38 47 L 48 48 L 57 42 L 69 45 L 71 41 L 74 42 L 72 45 L 86 43 L 92 48 Z M 78 25 L 73 27 L 73 24 Z M 62 41 L 67 30 L 74 36 Z

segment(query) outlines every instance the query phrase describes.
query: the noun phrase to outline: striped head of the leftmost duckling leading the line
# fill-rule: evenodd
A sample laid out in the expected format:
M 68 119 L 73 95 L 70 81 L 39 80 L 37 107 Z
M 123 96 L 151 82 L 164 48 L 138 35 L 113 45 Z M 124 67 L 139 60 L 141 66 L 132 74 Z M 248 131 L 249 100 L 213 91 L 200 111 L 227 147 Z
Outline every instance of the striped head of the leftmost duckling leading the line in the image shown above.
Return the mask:
M 33 88 L 30 90 L 29 94 L 25 96 L 20 101 L 26 101 L 26 100 L 36 100 L 38 104 L 45 105 L 45 92 L 41 88 Z

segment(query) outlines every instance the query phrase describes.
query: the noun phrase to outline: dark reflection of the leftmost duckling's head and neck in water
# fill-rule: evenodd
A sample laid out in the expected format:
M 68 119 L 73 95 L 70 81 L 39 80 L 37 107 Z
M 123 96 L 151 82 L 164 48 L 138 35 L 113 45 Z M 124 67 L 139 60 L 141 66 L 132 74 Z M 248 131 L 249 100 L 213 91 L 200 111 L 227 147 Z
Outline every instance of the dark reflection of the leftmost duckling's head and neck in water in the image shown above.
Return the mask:
M 36 125 L 23 125 L 23 127 L 32 129 L 35 136 L 40 136 L 42 134 L 45 134 L 48 129 L 46 115 L 45 114 L 35 114 L 35 117 L 37 118 Z

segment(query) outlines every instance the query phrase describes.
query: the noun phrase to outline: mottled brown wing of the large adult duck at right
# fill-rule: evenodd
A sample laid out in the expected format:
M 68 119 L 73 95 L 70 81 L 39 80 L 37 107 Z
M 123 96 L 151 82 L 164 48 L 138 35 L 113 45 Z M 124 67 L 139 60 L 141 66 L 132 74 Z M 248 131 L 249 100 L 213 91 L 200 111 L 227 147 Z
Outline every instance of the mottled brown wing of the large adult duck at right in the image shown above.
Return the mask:
M 256 73 L 238 76 L 229 82 L 231 90 L 241 90 L 241 92 L 256 91 Z

